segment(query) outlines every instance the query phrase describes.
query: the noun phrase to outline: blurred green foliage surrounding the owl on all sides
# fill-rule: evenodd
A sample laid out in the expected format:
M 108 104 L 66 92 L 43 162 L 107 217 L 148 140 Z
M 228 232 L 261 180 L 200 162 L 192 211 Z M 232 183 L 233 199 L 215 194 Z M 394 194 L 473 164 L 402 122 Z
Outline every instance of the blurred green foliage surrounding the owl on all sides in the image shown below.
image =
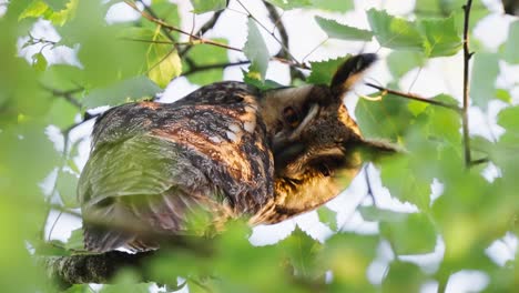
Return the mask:
M 492 243 L 517 234 L 519 108 L 512 95 L 518 84 L 498 87 L 496 80 L 502 73 L 499 64 L 519 62 L 519 20 L 512 21 L 498 50 L 477 40 L 469 43 L 475 50 L 468 68 L 471 82 L 454 84 L 470 90 L 470 104 L 464 104 L 462 97 L 444 93 L 423 99 L 407 94 L 398 84 L 410 71 L 437 58 L 464 55 L 464 32 L 472 34 L 476 24 L 491 13 L 480 1 L 470 7 L 471 1 L 417 0 L 405 16 L 373 8 L 365 11 L 366 28 L 342 23 L 344 14 L 335 20 L 327 13 L 348 12 L 354 1 L 267 1 L 265 11 L 274 18 L 268 28 L 255 17 L 257 11 L 237 0 L 191 2 L 187 14 L 166 0 L 0 2 L 4 9 L 0 17 L 2 290 L 55 290 L 38 260 L 81 250 L 81 230 L 72 232 L 68 242 L 50 241 L 52 222 L 47 221 L 55 212 L 79 216 L 74 193 L 81 140 L 70 134 L 99 114 L 95 108 L 153 99 L 180 77 L 194 84 L 216 82 L 225 69 L 237 65 L 247 82 L 262 88 L 278 85 L 267 79 L 273 63 L 291 71 L 293 84 L 326 83 L 337 64 L 356 53 L 345 51 L 309 62 L 293 57 L 283 10 L 315 12 L 312 20 L 328 39 L 379 43 L 391 80 L 380 84 L 383 90 L 373 99 L 359 99 L 355 115 L 366 137 L 395 141 L 407 150 L 378 168 L 390 196 L 413 204 L 414 212 L 363 203 L 358 214 L 378 228 L 366 234 L 343 230 L 335 211 L 322 208 L 320 221 L 334 231 L 324 243 L 297 228 L 274 245 L 253 246 L 247 240 L 250 228 L 230 223 L 226 232 L 208 240 L 208 254 L 184 247 L 161 251 L 143 264 L 143 271 L 121 271 L 114 284 L 100 292 L 149 292 L 157 284 L 167 291 L 187 286 L 190 292 L 418 292 L 430 282 L 441 292 L 449 276 L 464 270 L 484 273 L 488 292 L 512 292 L 519 285 L 517 257 L 502 264 L 488 252 Z M 234 11 L 227 8 L 231 4 L 244 8 L 248 18 L 243 28 L 236 28 L 247 33 L 241 46 L 207 37 L 217 36 L 207 32 L 213 28 L 217 32 L 218 19 Z M 134 20 L 108 21 L 109 10 L 123 6 L 134 9 Z M 471 18 L 464 26 L 468 12 Z M 204 13 L 207 22 L 196 30 L 182 29 L 199 17 L 193 13 Z M 31 33 L 42 20 L 51 23 L 59 38 Z M 267 39 L 277 43 L 278 53 L 267 47 Z M 50 58 L 49 52 L 59 50 L 74 52 L 77 61 Z M 502 109 L 497 114 L 501 135 L 464 132 L 470 131 L 465 113 L 471 119 L 478 108 L 491 120 L 490 109 L 496 104 Z M 57 129 L 60 134 L 52 134 Z M 468 140 L 465 133 L 470 134 Z M 497 170 L 496 175 L 489 179 L 488 170 Z M 442 189 L 431 196 L 435 184 Z M 366 198 L 373 193 L 368 181 Z M 430 270 L 406 257 L 434 253 L 438 243 L 445 247 L 438 267 Z M 369 271 L 379 263 L 381 246 L 389 246 L 393 256 L 381 281 L 374 281 Z M 85 284 L 67 290 L 90 291 Z

